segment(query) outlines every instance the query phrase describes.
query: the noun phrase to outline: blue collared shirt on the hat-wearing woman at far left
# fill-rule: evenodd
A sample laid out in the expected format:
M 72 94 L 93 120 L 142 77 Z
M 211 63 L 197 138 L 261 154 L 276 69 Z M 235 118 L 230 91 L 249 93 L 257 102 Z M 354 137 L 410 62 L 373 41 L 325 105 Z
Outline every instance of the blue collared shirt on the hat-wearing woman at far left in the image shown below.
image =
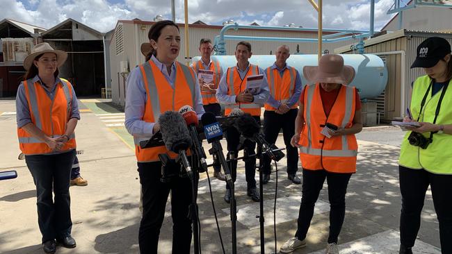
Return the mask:
M 49 96 L 49 99 L 53 100 L 55 96 L 55 90 L 56 86 L 61 83 L 59 77 L 55 78 L 55 84 L 54 87 L 49 90 L 44 83 L 41 81 L 41 78 L 36 75 L 34 78 L 31 79 L 31 82 L 35 83 L 38 82 L 42 87 L 44 87 L 44 90 Z M 31 85 L 31 84 L 30 84 Z M 77 103 L 77 97 L 74 92 L 74 87 L 72 87 L 72 108 L 71 108 L 71 118 L 76 118 L 80 120 L 80 112 L 79 112 L 79 103 Z M 24 82 L 22 81 L 19 85 L 19 88 L 17 88 L 17 95 L 16 95 L 16 120 L 17 120 L 17 128 L 22 128 L 26 124 L 32 123 L 31 121 L 31 113 L 29 108 L 29 103 L 26 100 L 26 94 L 25 94 L 25 87 Z

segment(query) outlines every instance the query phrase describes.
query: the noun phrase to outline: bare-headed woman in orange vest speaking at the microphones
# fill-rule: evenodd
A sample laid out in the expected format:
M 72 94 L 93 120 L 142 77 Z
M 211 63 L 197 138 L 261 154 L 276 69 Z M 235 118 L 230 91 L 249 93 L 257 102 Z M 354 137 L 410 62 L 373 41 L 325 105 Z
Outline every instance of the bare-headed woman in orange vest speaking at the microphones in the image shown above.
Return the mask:
M 148 140 L 159 131 L 157 123 L 166 111 L 177 111 L 190 105 L 198 115 L 204 113 L 200 86 L 194 71 L 176 61 L 181 35 L 174 22 L 156 22 L 148 33 L 149 43 L 141 45 L 146 62 L 133 69 L 127 78 L 125 126 L 134 136 L 135 153 L 143 192 L 143 216 L 140 221 L 138 244 L 140 253 L 157 253 L 160 228 L 166 201 L 171 192 L 173 229 L 172 253 L 189 253 L 191 220 L 187 217 L 192 201 L 191 182 L 179 174 L 168 183 L 161 179 L 159 154 L 177 158 L 166 146 L 146 149 L 140 141 Z M 169 166 L 168 166 L 169 165 Z M 167 164 L 169 170 L 179 171 L 180 165 Z

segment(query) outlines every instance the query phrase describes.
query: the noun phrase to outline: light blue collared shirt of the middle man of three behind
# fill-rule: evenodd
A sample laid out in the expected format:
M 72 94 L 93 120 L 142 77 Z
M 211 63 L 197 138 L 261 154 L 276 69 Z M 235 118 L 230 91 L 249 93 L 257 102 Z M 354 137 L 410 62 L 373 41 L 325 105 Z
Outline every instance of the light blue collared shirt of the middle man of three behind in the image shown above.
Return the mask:
M 236 66 L 237 71 L 239 71 L 240 78 L 245 78 L 246 74 L 248 73 L 248 70 L 250 69 L 250 63 L 248 63 L 248 67 L 246 69 L 241 70 L 239 68 L 239 65 Z M 258 67 L 259 74 L 264 74 L 264 81 L 261 83 L 261 91 L 259 94 L 256 94 L 255 101 L 252 103 L 256 104 L 264 104 L 266 103 L 268 96 L 270 95 L 270 90 L 268 89 L 268 83 L 267 83 L 267 77 L 263 69 L 261 67 Z M 218 85 L 218 89 L 216 90 L 216 99 L 219 103 L 222 104 L 235 104 L 236 103 L 236 95 L 228 95 L 227 94 L 227 83 L 226 83 L 227 75 L 223 75 L 220 80 L 220 84 Z

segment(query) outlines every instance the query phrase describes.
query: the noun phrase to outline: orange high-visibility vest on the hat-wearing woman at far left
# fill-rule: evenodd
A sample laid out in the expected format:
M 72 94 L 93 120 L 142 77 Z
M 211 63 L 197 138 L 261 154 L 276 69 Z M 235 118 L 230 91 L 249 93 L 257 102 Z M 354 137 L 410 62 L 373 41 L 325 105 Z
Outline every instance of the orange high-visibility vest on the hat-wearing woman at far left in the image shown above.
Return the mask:
M 31 122 L 49 137 L 60 137 L 65 134 L 67 121 L 72 108 L 72 85 L 62 80 L 56 84 L 55 96 L 51 100 L 45 88 L 31 79 L 22 82 L 25 88 L 26 101 L 29 104 Z M 24 128 L 17 128 L 19 148 L 25 155 L 42 155 L 54 153 L 45 142 L 27 133 Z M 76 149 L 75 134 L 64 144 L 60 151 Z

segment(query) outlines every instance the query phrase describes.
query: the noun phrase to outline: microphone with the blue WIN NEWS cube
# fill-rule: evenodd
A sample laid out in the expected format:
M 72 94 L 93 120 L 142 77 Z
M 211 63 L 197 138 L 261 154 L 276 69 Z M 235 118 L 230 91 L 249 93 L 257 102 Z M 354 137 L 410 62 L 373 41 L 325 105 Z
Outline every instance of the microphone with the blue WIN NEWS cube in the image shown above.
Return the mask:
M 223 130 L 221 130 L 220 124 L 216 121 L 215 115 L 211 112 L 204 113 L 201 117 L 201 121 L 204 126 L 204 134 L 206 135 L 207 142 L 212 144 L 209 153 L 212 155 L 215 154 L 220 160 L 223 171 L 225 171 L 226 181 L 229 187 L 233 189 L 234 182 L 232 181 L 231 171 L 229 170 L 229 167 L 227 167 L 225 155 L 223 154 L 223 147 L 220 144 L 220 140 L 223 139 Z

